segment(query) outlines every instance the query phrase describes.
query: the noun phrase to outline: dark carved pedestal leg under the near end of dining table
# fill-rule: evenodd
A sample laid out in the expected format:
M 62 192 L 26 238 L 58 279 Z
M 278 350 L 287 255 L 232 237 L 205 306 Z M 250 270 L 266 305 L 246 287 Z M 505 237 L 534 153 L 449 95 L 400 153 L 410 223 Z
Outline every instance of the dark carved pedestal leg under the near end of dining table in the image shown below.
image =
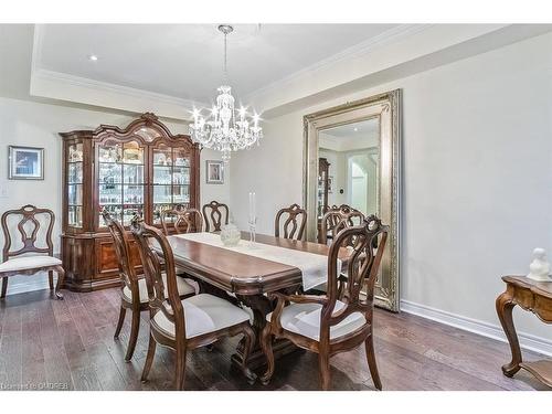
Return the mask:
M 266 325 L 266 316 L 273 311 L 273 305 L 270 300 L 264 295 L 237 295 L 237 298 L 242 304 L 247 306 L 253 310 L 253 330 L 255 331 L 255 346 L 253 351 L 250 353 L 247 360 L 247 367 L 251 370 L 266 365 L 266 358 L 261 349 L 261 333 Z M 241 367 L 244 357 L 244 346 L 245 341 L 240 341 L 237 346 L 236 353 L 232 355 L 232 362 L 237 367 Z M 275 359 L 283 357 L 287 353 L 298 351 L 299 348 L 294 346 L 290 341 L 286 339 L 278 339 L 273 342 L 273 350 Z

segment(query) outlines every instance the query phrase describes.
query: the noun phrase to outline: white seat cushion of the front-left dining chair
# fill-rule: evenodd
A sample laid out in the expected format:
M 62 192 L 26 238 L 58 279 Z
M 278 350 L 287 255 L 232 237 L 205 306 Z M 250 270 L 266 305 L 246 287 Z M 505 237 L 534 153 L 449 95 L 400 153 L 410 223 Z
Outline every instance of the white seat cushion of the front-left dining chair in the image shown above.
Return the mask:
M 250 315 L 227 300 L 209 294 L 200 294 L 182 299 L 185 318 L 185 337 L 214 332 L 250 320 Z M 158 311 L 153 321 L 166 333 L 174 337 L 174 323 L 162 311 Z

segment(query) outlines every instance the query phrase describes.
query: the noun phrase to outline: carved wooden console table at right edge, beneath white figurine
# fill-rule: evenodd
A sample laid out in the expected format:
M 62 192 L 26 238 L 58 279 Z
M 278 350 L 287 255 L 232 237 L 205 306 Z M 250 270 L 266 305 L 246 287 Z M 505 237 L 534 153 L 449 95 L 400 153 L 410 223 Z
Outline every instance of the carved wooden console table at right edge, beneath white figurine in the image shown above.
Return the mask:
M 526 276 L 503 276 L 502 280 L 506 283 L 506 291 L 497 298 L 497 314 L 512 352 L 512 360 L 502 365 L 502 372 L 512 376 L 522 368 L 552 388 L 552 360 L 522 362 L 512 319 L 512 309 L 519 305 L 522 309 L 532 311 L 543 322 L 552 323 L 552 282 L 537 282 Z

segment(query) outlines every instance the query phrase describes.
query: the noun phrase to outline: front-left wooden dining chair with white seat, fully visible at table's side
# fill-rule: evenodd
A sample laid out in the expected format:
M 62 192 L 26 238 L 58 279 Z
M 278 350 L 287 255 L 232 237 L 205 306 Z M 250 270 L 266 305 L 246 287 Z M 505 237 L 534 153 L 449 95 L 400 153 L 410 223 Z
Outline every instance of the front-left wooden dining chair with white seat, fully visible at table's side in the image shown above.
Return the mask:
M 250 315 L 227 300 L 209 294 L 181 299 L 177 289 L 174 256 L 167 237 L 138 217 L 132 221 L 131 231 L 139 245 L 150 310 L 148 354 L 141 380 L 146 381 L 148 378 L 157 343 L 177 352 L 176 388 L 182 390 L 188 350 L 211 344 L 223 337 L 243 333 L 245 343 L 242 370 L 250 382 L 254 382 L 256 375 L 246 365 L 255 343 Z M 161 273 L 162 263 L 166 264 L 166 278 Z

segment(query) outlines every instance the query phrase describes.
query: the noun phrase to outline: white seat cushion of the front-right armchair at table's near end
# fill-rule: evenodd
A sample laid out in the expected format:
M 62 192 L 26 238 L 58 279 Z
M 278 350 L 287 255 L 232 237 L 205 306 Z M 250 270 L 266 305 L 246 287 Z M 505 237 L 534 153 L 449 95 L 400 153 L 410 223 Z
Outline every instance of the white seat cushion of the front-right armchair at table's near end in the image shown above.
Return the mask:
M 333 314 L 337 314 L 346 306 L 342 301 L 336 302 Z M 319 304 L 291 304 L 282 310 L 280 325 L 287 331 L 301 335 L 304 337 L 320 340 L 320 315 L 322 305 Z M 266 316 L 270 321 L 273 314 Z M 364 315 L 352 312 L 341 322 L 330 327 L 330 339 L 337 339 L 351 333 L 367 323 Z

